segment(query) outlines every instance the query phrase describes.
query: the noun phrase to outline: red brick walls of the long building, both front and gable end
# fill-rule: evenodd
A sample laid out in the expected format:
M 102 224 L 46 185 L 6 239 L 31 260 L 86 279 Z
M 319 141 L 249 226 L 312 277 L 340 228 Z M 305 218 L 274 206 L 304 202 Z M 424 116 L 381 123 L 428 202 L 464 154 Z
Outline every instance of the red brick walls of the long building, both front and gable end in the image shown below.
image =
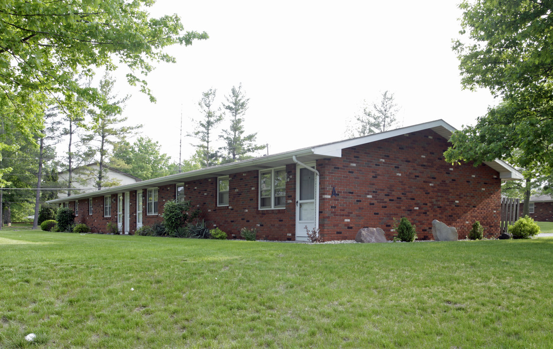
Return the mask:
M 392 239 L 393 218 L 406 216 L 416 225 L 420 240 L 432 239 L 432 220 L 455 226 L 463 239 L 475 220 L 486 236 L 499 235 L 500 179 L 488 166 L 450 165 L 443 152 L 448 143 L 431 130 L 351 147 L 341 158 L 317 161 L 320 178 L 320 233 L 325 240 L 354 239 L 363 227 L 384 229 Z M 291 161 L 291 159 L 290 159 Z M 239 238 L 243 227 L 257 229 L 258 239 L 295 240 L 296 165 L 286 166 L 284 209 L 259 210 L 259 172 L 229 176 L 229 205 L 217 207 L 217 178 L 185 183 L 191 210 L 199 208 L 207 227 L 218 226 L 229 239 Z M 332 196 L 335 188 L 336 196 Z M 143 224 L 161 222 L 163 205 L 175 199 L 176 185 L 160 186 L 158 214 L 147 215 L 143 191 Z M 136 228 L 135 191 L 131 191 L 130 228 Z M 117 199 L 117 195 L 112 195 Z M 94 198 L 94 214 L 87 215 L 87 200 L 80 202 L 80 218 L 94 232 L 105 232 L 108 221 L 117 223 L 117 205 L 111 218 L 103 217 L 103 197 Z M 70 203 L 71 205 L 71 203 Z M 70 206 L 71 207 L 71 206 Z M 86 215 L 85 215 L 86 213 Z

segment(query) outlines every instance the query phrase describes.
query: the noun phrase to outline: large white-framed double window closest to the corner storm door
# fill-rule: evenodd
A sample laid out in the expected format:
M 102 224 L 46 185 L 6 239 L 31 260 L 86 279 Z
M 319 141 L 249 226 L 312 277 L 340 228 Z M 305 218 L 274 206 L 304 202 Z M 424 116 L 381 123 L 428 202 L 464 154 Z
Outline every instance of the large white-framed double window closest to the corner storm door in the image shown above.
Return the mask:
M 259 171 L 259 209 L 285 208 L 286 168 Z

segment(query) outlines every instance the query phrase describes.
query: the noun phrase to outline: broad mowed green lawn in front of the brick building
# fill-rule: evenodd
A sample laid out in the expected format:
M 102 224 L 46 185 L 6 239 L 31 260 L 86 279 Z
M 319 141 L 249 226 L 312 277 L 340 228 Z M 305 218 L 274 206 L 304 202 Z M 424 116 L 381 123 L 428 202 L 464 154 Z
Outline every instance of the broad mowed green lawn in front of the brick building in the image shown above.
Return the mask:
M 0 347 L 545 348 L 552 252 L 1 231 Z

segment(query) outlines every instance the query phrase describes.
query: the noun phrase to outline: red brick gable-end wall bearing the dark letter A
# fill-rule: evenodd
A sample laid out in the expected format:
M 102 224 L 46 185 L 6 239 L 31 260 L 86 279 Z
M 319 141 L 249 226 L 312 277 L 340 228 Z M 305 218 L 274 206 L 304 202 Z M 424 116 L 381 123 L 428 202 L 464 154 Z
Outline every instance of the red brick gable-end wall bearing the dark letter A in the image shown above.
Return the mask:
M 320 229 L 325 240 L 354 239 L 363 227 L 392 239 L 393 218 L 408 218 L 419 240 L 432 239 L 432 220 L 455 226 L 463 239 L 475 220 L 499 235 L 500 179 L 488 166 L 450 165 L 447 141 L 431 130 L 342 151 L 319 161 Z M 335 188 L 337 196 L 332 196 Z

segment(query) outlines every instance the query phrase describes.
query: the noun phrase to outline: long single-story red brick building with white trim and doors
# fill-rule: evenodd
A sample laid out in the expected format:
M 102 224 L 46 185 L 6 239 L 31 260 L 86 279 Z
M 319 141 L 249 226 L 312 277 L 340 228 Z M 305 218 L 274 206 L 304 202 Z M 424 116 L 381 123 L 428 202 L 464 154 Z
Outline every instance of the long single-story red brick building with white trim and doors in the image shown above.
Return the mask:
M 124 234 L 163 221 L 164 203 L 190 200 L 207 226 L 239 237 L 306 241 L 306 228 L 326 241 L 354 239 L 379 227 L 392 239 L 393 219 L 407 217 L 420 240 L 432 220 L 455 226 L 460 239 L 474 221 L 498 236 L 501 182 L 522 179 L 496 160 L 474 167 L 444 160 L 454 131 L 443 120 L 304 149 L 202 168 L 69 198 L 77 221 L 94 232 L 117 222 Z M 52 203 L 67 199 L 51 200 Z

